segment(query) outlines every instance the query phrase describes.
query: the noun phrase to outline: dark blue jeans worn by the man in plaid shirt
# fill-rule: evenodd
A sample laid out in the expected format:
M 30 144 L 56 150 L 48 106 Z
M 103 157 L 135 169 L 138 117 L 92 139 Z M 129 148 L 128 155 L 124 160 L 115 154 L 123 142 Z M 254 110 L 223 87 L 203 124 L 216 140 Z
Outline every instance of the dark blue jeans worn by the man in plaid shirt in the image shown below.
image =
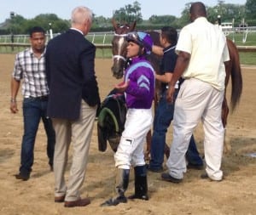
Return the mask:
M 25 98 L 23 100 L 24 134 L 21 143 L 20 173 L 30 174 L 34 161 L 34 144 L 40 119 L 44 122 L 47 134 L 47 156 L 53 165 L 55 150 L 55 130 L 51 120 L 46 117 L 47 99 Z

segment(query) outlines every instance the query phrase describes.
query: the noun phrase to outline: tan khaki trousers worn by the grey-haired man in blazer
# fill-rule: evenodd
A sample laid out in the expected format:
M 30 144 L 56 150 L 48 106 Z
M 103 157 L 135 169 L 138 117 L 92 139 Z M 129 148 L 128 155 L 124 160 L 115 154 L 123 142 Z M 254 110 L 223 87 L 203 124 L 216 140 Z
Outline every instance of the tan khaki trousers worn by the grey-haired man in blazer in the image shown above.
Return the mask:
M 53 119 L 56 133 L 54 157 L 55 196 L 66 195 L 65 201 L 76 201 L 80 197 L 79 189 L 84 183 L 95 116 L 96 107 L 90 107 L 82 100 L 79 120 Z M 67 167 L 68 149 L 71 142 L 73 144 L 73 160 L 66 185 L 64 173 Z

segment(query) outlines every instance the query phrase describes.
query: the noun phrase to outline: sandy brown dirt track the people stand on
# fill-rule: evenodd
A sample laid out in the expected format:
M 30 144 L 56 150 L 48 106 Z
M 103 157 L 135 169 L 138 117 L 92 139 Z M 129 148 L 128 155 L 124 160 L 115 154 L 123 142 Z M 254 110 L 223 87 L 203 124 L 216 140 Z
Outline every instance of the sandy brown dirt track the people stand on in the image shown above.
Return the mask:
M 160 173 L 148 173 L 149 201 L 128 201 L 117 207 L 100 207 L 113 195 L 113 151 L 97 149 L 96 123 L 90 145 L 90 158 L 81 190 L 90 197 L 88 207 L 66 208 L 54 202 L 54 175 L 49 171 L 46 139 L 42 124 L 35 144 L 35 160 L 28 181 L 15 179 L 20 166 L 20 141 L 23 133 L 21 93 L 20 111 L 9 111 L 10 76 L 15 55 L 0 55 L 0 214 L 2 215 L 59 215 L 59 214 L 256 214 L 256 67 L 242 66 L 243 93 L 236 112 L 230 116 L 227 135 L 231 151 L 224 154 L 222 182 L 201 179 L 204 170 L 188 170 L 183 183 L 171 184 L 160 180 Z M 111 75 L 111 59 L 96 59 L 96 76 L 102 99 L 119 82 Z M 230 91 L 230 88 L 229 88 Z M 172 141 L 172 127 L 167 143 Z M 201 125 L 195 139 L 203 155 Z M 255 154 L 254 154 L 255 155 Z M 70 158 L 72 149 L 70 149 Z M 69 163 L 70 164 L 70 163 Z M 68 170 L 67 170 L 68 175 Z M 133 171 L 127 195 L 133 193 Z

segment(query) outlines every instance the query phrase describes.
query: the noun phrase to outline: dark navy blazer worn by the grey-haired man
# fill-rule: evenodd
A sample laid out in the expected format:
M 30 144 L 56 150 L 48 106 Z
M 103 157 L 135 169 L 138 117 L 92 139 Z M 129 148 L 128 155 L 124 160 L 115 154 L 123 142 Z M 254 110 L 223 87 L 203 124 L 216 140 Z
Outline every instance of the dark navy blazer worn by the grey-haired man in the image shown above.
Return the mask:
M 73 29 L 49 41 L 45 54 L 49 117 L 77 120 L 82 99 L 90 106 L 100 104 L 95 54 L 96 47 Z

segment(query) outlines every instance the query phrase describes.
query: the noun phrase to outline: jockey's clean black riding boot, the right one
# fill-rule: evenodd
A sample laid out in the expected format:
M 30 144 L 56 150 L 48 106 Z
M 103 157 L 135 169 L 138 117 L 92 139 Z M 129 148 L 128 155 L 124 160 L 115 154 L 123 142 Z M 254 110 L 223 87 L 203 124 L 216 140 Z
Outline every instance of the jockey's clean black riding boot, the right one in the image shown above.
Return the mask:
M 129 196 L 128 198 L 148 201 L 148 182 L 146 165 L 134 167 L 134 174 L 135 194 Z

